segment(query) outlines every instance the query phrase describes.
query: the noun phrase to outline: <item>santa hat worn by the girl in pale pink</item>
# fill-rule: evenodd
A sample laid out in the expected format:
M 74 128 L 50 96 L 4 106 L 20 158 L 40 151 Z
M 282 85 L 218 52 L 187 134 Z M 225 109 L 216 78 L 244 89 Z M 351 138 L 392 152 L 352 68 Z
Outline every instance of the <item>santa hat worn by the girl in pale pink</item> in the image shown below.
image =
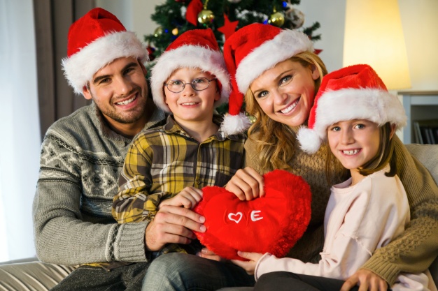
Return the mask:
M 398 97 L 388 92 L 368 65 L 348 66 L 323 77 L 308 127 L 298 130 L 301 148 L 308 154 L 316 153 L 327 137 L 328 126 L 351 119 L 367 119 L 379 126 L 390 122 L 396 129 L 407 122 Z

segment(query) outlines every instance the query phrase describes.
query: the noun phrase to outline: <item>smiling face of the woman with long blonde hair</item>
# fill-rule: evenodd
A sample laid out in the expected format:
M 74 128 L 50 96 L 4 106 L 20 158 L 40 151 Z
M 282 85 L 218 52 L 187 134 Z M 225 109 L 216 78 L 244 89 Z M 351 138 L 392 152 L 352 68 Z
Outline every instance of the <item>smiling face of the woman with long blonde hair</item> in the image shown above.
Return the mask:
M 263 112 L 271 119 L 300 126 L 309 118 L 319 71 L 287 59 L 264 71 L 250 85 Z

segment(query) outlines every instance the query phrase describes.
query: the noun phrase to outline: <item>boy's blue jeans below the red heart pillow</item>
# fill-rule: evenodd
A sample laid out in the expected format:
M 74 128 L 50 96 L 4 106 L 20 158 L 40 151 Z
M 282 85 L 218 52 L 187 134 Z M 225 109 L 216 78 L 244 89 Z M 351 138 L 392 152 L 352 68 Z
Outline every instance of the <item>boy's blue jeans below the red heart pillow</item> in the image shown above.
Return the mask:
M 213 291 L 253 286 L 254 276 L 232 262 L 216 262 L 196 255 L 167 253 L 153 260 L 142 291 Z

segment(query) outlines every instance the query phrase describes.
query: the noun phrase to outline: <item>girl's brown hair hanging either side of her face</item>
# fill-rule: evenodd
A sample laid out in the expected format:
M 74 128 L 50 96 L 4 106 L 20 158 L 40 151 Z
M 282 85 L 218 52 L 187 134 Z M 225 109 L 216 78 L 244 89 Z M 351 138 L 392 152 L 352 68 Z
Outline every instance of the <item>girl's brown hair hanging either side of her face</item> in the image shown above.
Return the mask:
M 380 144 L 379 151 L 370 161 L 359 167 L 359 173 L 363 176 L 368 176 L 374 172 L 378 172 L 383 169 L 388 163 L 390 165 L 390 171 L 385 173 L 386 177 L 394 177 L 397 172 L 397 164 L 395 163 L 395 142 L 393 138 L 390 138 L 391 124 L 387 122 L 380 129 Z M 327 147 L 327 158 L 325 160 L 325 172 L 327 175 L 327 181 L 331 184 L 333 176 L 332 173 L 341 171 L 341 163 L 334 157 L 330 147 Z M 346 170 L 344 168 L 344 170 Z

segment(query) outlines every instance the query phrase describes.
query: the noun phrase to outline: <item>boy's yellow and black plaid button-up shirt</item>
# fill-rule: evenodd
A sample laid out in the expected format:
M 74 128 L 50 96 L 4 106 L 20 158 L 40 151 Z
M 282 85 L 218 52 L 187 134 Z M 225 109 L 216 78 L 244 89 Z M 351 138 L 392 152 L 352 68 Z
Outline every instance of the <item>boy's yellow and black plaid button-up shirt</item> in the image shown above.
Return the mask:
M 222 117 L 213 121 L 220 124 Z M 172 117 L 167 124 L 140 133 L 127 152 L 113 200 L 118 223 L 151 220 L 164 199 L 183 188 L 225 186 L 243 166 L 244 135 L 221 130 L 204 142 L 190 137 Z

